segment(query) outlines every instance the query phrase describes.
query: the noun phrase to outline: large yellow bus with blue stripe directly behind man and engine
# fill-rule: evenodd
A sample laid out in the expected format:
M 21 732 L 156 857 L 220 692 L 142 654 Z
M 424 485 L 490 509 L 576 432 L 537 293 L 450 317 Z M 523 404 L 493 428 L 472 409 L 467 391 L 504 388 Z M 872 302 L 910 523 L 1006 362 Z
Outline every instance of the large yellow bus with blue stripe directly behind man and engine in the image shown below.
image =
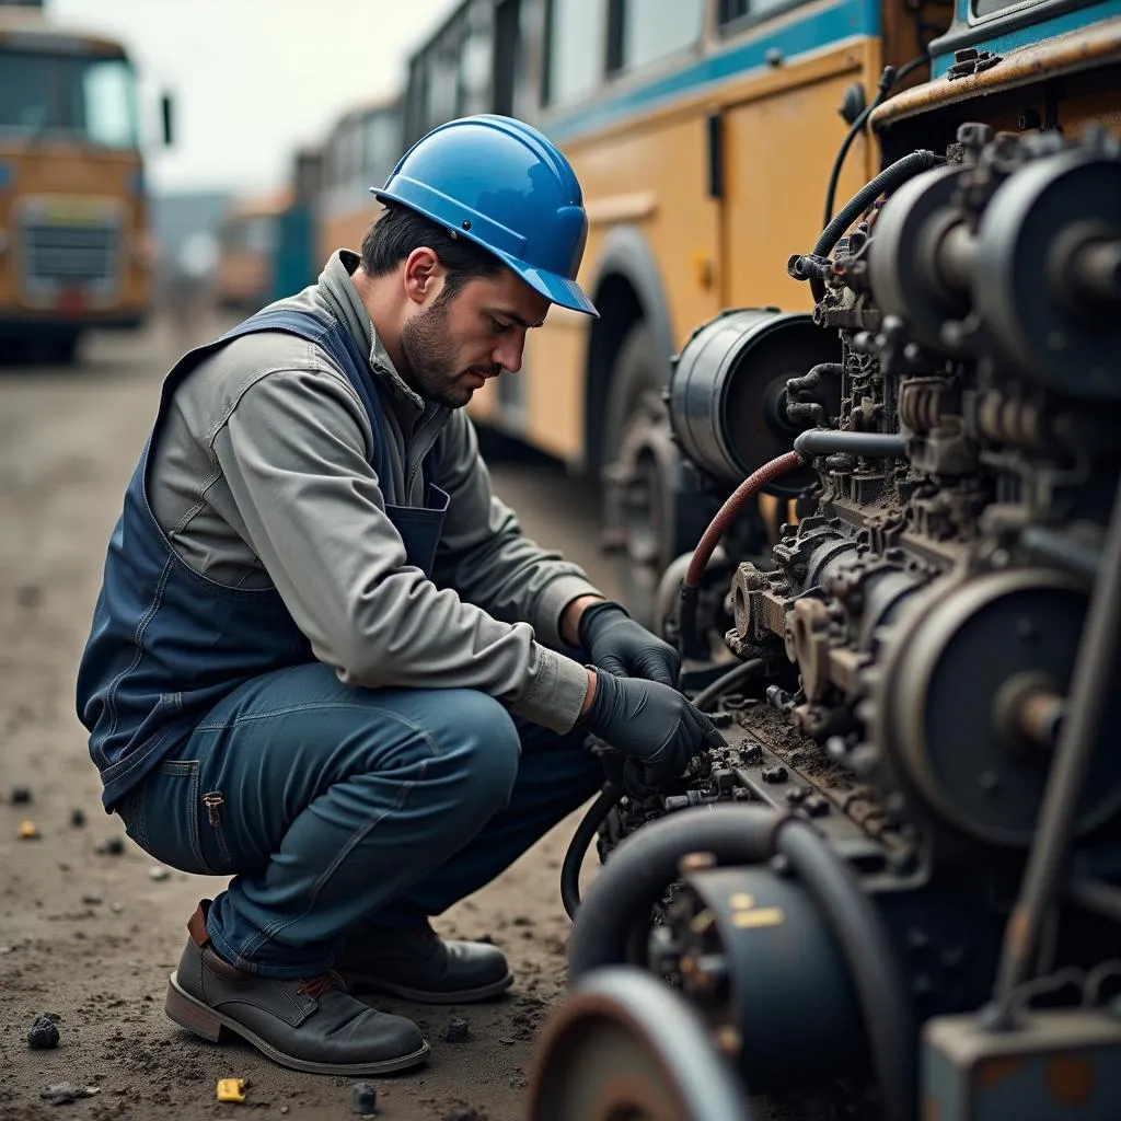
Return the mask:
M 789 247 L 821 230 L 822 183 L 883 66 L 920 58 L 949 16 L 936 0 L 466 0 L 410 59 L 407 141 L 510 113 L 580 176 L 581 281 L 600 318 L 554 308 L 528 377 L 489 382 L 470 408 L 604 479 L 604 541 L 632 605 L 698 531 L 674 498 L 670 356 L 721 308 L 812 306 L 786 276 Z M 855 138 L 841 202 L 873 147 Z M 782 337 L 806 356 L 821 344 L 800 319 Z

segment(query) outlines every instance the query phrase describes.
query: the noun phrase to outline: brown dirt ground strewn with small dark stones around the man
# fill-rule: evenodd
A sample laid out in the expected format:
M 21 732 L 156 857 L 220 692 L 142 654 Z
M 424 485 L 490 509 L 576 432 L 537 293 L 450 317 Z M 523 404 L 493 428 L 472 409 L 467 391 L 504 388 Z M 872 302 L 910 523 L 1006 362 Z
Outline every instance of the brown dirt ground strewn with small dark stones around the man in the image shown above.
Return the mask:
M 247 1109 L 317 1121 L 355 1115 L 352 1080 L 285 1071 L 165 1018 L 187 916 L 222 884 L 180 872 L 157 878 L 166 870 L 102 810 L 73 712 L 105 541 L 178 342 L 158 328 L 95 337 L 75 370 L 0 369 L 0 1121 L 191 1121 Z M 495 480 L 527 531 L 614 592 L 586 489 L 538 466 L 500 466 Z M 29 804 L 12 804 L 20 787 Z M 20 837 L 24 822 L 36 839 Z M 383 1004 L 419 1021 L 433 1051 L 419 1074 L 376 1080 L 380 1118 L 524 1117 L 535 1036 L 564 983 L 568 920 L 557 881 L 574 825 L 569 818 L 437 920 L 446 935 L 490 935 L 516 984 L 487 1006 Z M 117 841 L 122 852 L 104 851 Z M 48 1012 L 58 1017 L 59 1044 L 31 1049 L 28 1029 Z M 453 1016 L 470 1023 L 464 1043 L 441 1038 Z M 224 1077 L 249 1081 L 244 1105 L 215 1101 Z M 61 1106 L 40 1097 L 63 1082 L 96 1092 Z

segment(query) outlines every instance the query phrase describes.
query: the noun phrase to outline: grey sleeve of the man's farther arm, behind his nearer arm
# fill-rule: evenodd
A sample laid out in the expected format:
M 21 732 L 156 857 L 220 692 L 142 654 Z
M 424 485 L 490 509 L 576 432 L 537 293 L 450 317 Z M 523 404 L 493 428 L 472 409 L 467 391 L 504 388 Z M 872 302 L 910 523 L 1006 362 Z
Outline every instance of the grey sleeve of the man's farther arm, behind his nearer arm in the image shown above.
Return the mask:
M 491 487 L 474 426 L 455 413 L 441 436 L 439 485 L 451 495 L 433 578 L 509 623 L 528 622 L 559 647 L 560 615 L 577 596 L 600 595 L 584 572 L 526 537 Z

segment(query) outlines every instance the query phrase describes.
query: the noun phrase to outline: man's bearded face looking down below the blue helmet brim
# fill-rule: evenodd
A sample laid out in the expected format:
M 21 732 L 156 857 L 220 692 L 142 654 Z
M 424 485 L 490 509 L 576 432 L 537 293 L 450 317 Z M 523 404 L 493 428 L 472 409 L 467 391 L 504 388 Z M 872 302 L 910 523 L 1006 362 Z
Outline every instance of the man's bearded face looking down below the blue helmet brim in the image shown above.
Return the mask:
M 488 378 L 517 373 L 526 332 L 545 321 L 549 302 L 509 269 L 442 290 L 401 330 L 401 373 L 429 401 L 462 408 Z

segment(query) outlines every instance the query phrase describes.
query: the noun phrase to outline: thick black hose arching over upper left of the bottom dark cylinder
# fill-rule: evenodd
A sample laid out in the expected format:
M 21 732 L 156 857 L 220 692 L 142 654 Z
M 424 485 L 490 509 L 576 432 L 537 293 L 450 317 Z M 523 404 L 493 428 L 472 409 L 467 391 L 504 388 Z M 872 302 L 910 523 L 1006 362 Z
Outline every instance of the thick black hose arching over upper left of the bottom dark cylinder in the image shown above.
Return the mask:
M 581 906 L 568 939 L 569 984 L 601 965 L 629 961 L 634 921 L 679 878 L 682 856 L 711 852 L 724 864 L 760 863 L 773 852 L 780 821 L 772 809 L 716 805 L 683 810 L 632 833 L 611 854 Z

